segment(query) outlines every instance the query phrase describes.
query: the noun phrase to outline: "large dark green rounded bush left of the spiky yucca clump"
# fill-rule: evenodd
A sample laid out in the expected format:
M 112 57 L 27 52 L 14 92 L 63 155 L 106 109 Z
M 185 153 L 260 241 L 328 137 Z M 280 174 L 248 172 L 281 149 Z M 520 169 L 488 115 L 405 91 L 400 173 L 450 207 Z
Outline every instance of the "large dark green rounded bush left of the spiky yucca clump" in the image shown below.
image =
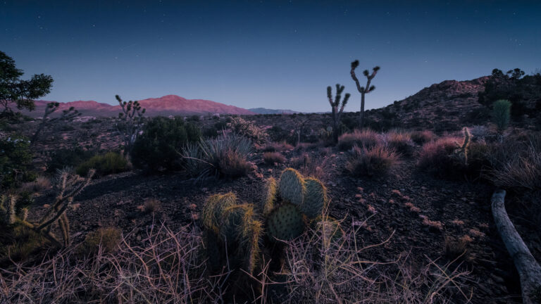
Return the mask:
M 186 144 L 198 141 L 199 127 L 180 119 L 152 118 L 144 125 L 132 151 L 135 167 L 156 172 L 178 170 L 182 166 L 179 152 Z

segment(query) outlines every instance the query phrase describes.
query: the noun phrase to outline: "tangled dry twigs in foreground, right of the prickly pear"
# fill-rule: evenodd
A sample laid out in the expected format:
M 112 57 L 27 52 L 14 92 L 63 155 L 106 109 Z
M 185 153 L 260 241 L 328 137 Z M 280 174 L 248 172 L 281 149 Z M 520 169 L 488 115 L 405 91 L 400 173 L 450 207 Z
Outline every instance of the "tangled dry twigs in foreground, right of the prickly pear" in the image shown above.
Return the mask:
M 287 291 L 279 302 L 451 303 L 458 296 L 452 303 L 459 298 L 467 303 L 471 298 L 464 285 L 468 272 L 460 266 L 430 261 L 419 269 L 406 265 L 407 257 L 395 262 L 366 259 L 368 248 L 384 246 L 392 234 L 381 243 L 362 246 L 356 235 L 363 224 L 366 221 L 340 234 L 332 233 L 332 225 L 320 224 L 291 241 L 284 271 Z

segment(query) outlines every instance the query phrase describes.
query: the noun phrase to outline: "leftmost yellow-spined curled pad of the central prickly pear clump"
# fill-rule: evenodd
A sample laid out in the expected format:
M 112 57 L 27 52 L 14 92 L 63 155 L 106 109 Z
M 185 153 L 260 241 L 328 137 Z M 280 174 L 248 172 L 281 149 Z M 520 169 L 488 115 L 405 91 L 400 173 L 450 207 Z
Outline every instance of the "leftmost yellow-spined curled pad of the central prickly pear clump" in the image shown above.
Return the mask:
M 215 194 L 206 201 L 201 211 L 202 221 L 206 229 L 216 234 L 220 233 L 221 218 L 225 208 L 235 205 L 237 196 L 232 192 L 227 194 Z

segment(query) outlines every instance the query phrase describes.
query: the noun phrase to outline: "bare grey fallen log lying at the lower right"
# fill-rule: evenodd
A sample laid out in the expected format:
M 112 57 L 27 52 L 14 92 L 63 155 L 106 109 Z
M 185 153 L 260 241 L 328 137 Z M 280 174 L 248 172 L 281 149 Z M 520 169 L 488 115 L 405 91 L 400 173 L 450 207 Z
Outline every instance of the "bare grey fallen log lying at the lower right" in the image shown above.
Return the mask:
M 521 277 L 522 301 L 524 304 L 541 303 L 541 266 L 528 246 L 509 220 L 505 210 L 505 190 L 497 190 L 492 194 L 492 216 L 499 235 L 513 259 L 518 275 Z

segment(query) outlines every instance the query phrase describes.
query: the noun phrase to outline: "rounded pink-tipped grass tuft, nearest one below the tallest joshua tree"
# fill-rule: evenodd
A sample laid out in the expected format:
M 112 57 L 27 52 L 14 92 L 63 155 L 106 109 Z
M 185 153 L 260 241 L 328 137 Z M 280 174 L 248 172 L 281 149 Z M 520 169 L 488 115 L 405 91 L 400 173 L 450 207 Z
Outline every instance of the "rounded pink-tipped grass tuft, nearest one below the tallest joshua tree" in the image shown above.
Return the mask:
M 346 169 L 354 177 L 385 175 L 397 160 L 397 153 L 381 144 L 371 148 L 354 146 Z

